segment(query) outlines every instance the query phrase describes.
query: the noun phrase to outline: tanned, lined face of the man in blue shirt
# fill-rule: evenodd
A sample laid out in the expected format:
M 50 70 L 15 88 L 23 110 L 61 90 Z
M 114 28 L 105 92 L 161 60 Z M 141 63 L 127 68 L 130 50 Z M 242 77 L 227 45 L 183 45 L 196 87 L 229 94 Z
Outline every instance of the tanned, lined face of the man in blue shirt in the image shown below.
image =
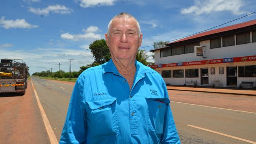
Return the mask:
M 134 18 L 115 18 L 105 34 L 111 56 L 119 60 L 133 60 L 141 46 L 142 34 L 139 38 Z

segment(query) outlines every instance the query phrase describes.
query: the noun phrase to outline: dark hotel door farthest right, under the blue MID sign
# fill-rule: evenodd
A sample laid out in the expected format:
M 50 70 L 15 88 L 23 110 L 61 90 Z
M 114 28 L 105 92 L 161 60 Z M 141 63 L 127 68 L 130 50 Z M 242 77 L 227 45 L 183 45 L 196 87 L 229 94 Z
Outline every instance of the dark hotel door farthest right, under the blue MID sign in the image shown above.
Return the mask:
M 227 66 L 227 86 L 237 87 L 236 66 Z

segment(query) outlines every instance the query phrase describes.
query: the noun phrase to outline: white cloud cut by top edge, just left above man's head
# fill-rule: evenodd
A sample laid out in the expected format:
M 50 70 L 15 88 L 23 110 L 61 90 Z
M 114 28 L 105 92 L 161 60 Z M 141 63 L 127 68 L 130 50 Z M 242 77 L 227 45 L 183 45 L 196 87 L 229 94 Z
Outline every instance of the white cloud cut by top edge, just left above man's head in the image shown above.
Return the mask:
M 80 1 L 80 6 L 95 7 L 95 6 L 113 6 L 117 0 L 78 0 Z

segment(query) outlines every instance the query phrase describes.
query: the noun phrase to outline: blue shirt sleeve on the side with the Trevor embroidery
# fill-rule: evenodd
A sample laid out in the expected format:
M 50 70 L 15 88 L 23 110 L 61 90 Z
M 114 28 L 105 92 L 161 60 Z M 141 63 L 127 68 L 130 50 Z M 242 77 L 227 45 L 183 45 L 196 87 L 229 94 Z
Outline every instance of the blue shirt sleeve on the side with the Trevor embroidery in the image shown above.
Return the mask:
M 83 107 L 82 96 L 83 83 L 78 78 L 70 98 L 59 144 L 81 144 L 86 141 L 86 111 Z

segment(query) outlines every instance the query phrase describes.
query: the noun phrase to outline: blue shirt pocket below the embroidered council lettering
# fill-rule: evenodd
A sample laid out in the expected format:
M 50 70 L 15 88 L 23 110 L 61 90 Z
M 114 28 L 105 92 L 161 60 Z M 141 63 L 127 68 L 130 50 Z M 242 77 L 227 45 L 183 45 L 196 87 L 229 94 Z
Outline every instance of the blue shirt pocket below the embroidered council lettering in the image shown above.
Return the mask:
M 156 133 L 161 138 L 165 111 L 170 103 L 169 98 L 164 96 L 145 96 L 148 105 L 148 131 Z

